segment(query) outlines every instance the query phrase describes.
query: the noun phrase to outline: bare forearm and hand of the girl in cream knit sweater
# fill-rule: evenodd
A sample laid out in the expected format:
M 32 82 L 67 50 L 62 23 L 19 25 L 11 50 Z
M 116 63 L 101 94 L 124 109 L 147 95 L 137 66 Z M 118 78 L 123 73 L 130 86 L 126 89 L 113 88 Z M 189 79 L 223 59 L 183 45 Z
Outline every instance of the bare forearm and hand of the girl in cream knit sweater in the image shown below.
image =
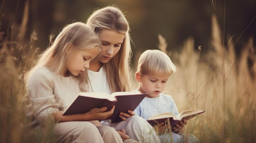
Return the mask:
M 110 111 L 105 112 L 107 110 L 106 107 L 93 108 L 84 114 L 71 114 L 65 116 L 63 116 L 64 111 L 56 111 L 53 115 L 56 122 L 104 120 L 113 114 L 114 109 L 115 106 L 113 106 Z

